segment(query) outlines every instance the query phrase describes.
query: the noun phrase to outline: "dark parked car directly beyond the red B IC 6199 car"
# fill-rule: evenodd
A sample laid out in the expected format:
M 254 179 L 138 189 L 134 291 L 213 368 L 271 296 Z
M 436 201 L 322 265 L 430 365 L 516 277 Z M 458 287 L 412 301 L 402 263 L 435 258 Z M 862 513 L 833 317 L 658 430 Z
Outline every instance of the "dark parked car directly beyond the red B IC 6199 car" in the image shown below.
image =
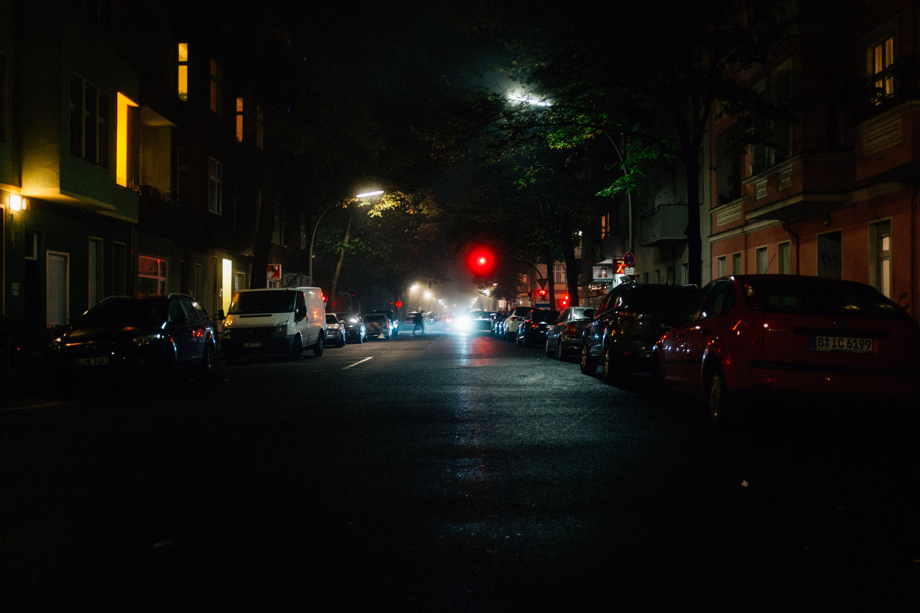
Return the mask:
M 591 375 L 602 364 L 608 383 L 627 373 L 650 372 L 651 350 L 667 331 L 664 321 L 676 317 L 696 292 L 694 285 L 617 285 L 584 328 L 581 372 Z

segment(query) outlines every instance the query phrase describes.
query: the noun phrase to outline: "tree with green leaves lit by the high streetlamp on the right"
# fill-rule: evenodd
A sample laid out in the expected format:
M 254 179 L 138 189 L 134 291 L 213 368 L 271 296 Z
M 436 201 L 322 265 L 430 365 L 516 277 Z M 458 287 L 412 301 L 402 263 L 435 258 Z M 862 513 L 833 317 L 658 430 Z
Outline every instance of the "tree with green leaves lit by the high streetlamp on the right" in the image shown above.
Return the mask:
M 534 142 L 604 156 L 608 168 L 623 168 L 605 195 L 634 190 L 651 161 L 678 161 L 686 168 L 688 272 L 700 283 L 701 153 L 714 103 L 742 116 L 742 142 L 768 140 L 782 111 L 738 78 L 782 40 L 785 16 L 767 4 L 650 0 L 604 13 L 528 2 L 504 13 L 470 11 L 466 29 L 500 37 L 515 61 L 505 66 L 506 87 L 478 89 L 466 115 L 457 114 L 459 129 L 436 136 L 448 151 L 478 135 L 495 156 Z

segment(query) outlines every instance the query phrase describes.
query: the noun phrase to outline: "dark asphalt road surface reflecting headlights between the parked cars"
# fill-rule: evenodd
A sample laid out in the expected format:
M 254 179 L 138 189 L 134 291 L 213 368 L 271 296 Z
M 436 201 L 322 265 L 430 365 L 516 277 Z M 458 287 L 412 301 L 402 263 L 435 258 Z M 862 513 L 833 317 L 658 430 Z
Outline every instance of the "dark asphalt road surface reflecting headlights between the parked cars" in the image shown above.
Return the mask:
M 41 393 L 0 402 L 0 609 L 916 611 L 916 410 L 715 428 L 439 327 Z

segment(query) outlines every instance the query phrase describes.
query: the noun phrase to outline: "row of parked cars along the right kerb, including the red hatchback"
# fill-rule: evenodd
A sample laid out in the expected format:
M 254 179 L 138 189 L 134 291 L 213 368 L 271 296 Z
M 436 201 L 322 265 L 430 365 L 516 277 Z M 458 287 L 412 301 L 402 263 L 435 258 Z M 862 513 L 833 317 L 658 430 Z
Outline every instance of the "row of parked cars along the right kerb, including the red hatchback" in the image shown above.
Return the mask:
M 496 334 L 534 344 L 536 312 L 512 311 L 506 321 L 519 318 L 516 326 Z M 653 386 L 702 401 L 714 420 L 753 400 L 913 402 L 920 391 L 916 320 L 875 288 L 840 279 L 734 275 L 702 289 L 625 283 L 596 309 L 558 314 L 544 346 L 561 360 L 578 353 L 586 375 L 601 366 L 611 384 L 650 373 Z

